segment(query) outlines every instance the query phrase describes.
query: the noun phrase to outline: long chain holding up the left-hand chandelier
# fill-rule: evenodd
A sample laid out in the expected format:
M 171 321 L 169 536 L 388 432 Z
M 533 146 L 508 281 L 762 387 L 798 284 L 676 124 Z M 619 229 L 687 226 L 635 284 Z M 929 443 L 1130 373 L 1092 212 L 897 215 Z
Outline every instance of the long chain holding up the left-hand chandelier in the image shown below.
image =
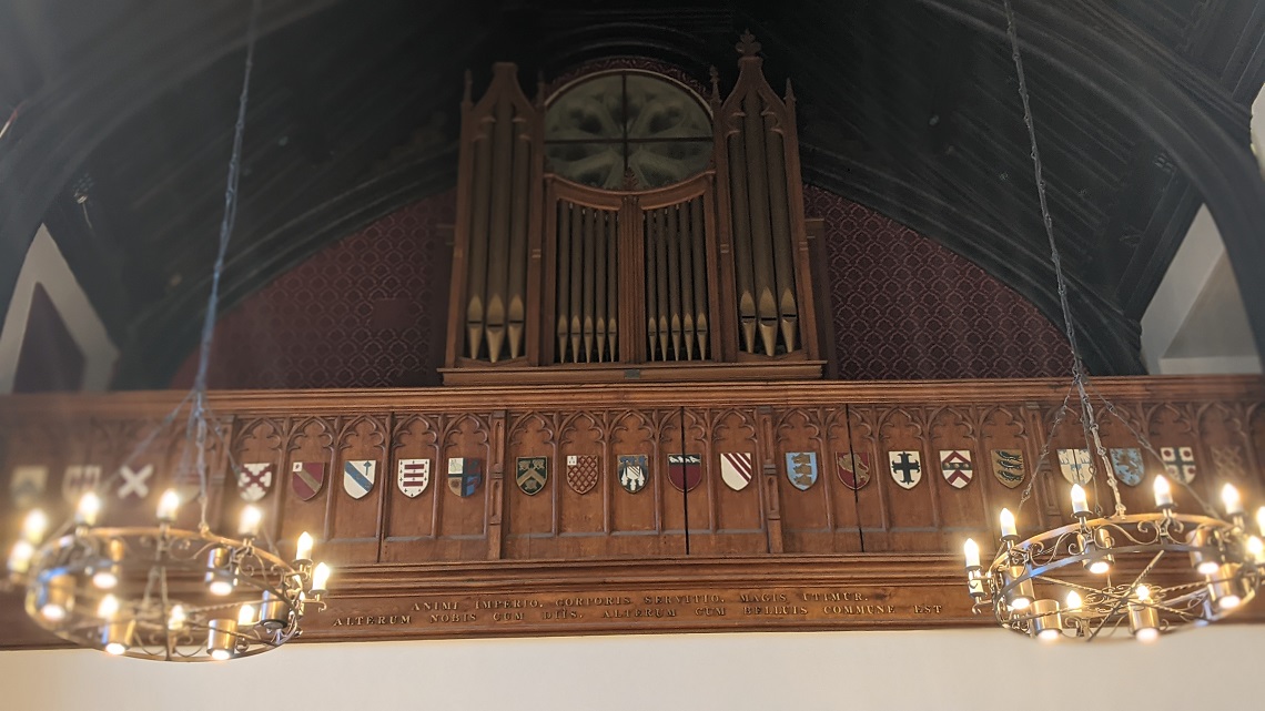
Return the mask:
M 209 528 L 206 522 L 207 496 L 206 481 L 206 372 L 211 359 L 211 340 L 215 335 L 215 316 L 219 310 L 220 277 L 224 275 L 224 258 L 229 249 L 229 237 L 233 234 L 233 225 L 237 221 L 238 209 L 238 182 L 242 176 L 242 137 L 245 133 L 245 108 L 250 95 L 250 70 L 254 67 L 254 44 L 258 38 L 261 0 L 252 0 L 250 20 L 247 25 L 245 40 L 245 68 L 242 78 L 242 94 L 238 97 L 237 123 L 233 127 L 233 153 L 229 157 L 228 185 L 224 189 L 224 219 L 220 221 L 219 249 L 215 254 L 215 267 L 211 269 L 211 295 L 206 300 L 206 315 L 202 319 L 202 334 L 197 354 L 197 374 L 194 376 L 194 402 L 188 409 L 188 426 L 186 433 L 194 435 L 197 461 L 197 501 L 201 505 L 201 520 L 199 526 L 202 530 Z

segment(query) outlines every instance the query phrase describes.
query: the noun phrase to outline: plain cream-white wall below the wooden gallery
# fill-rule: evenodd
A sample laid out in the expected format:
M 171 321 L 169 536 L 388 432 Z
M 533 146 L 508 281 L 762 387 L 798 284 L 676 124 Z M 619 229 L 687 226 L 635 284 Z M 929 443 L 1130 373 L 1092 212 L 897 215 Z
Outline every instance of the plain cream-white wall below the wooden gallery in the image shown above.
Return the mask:
M 1001 629 L 291 644 L 224 664 L 0 653 L 6 711 L 1260 708 L 1265 628 L 1152 645 Z M 1013 689 L 1006 688 L 1016 684 Z M 1018 691 L 1030 684 L 1031 691 Z M 233 703 L 233 695 L 253 702 Z

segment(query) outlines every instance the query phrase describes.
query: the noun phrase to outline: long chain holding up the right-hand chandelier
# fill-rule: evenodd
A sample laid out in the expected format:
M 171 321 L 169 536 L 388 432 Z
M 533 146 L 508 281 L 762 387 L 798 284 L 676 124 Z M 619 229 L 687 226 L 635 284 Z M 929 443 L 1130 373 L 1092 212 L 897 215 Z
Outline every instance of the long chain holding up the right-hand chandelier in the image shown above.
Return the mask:
M 1123 516 L 1125 504 L 1120 498 L 1120 487 L 1116 483 L 1116 476 L 1112 472 L 1111 462 L 1107 459 L 1107 450 L 1103 448 L 1102 439 L 1098 434 L 1098 421 L 1094 419 L 1093 402 L 1085 392 L 1085 368 L 1080 359 L 1080 348 L 1077 345 L 1077 328 L 1071 320 L 1071 306 L 1068 304 L 1068 280 L 1063 273 L 1063 259 L 1059 257 L 1059 245 L 1054 239 L 1054 219 L 1050 216 L 1050 206 L 1045 196 L 1045 178 L 1042 177 L 1041 170 L 1041 151 L 1037 148 L 1036 143 L 1036 127 L 1032 120 L 1032 106 L 1028 101 L 1027 80 L 1023 76 L 1023 57 L 1020 54 L 1020 39 L 1018 33 L 1015 29 L 1015 8 L 1011 6 L 1011 0 L 1002 0 L 1002 3 L 1006 6 L 1006 35 L 1011 40 L 1011 57 L 1015 59 L 1015 73 L 1018 77 L 1020 85 L 1020 100 L 1023 102 L 1023 125 L 1027 127 L 1028 143 L 1032 148 L 1032 173 L 1036 178 L 1037 200 L 1041 204 L 1041 221 L 1045 225 L 1045 235 L 1050 243 L 1050 263 L 1054 266 L 1054 277 L 1059 287 L 1059 309 L 1063 311 L 1063 324 L 1068 337 L 1068 347 L 1071 349 L 1071 385 L 1075 387 L 1077 396 L 1080 399 L 1080 421 L 1085 429 L 1085 442 L 1087 444 L 1093 445 L 1094 454 L 1097 454 L 1102 461 L 1103 471 L 1107 476 L 1107 485 L 1111 487 L 1112 495 L 1116 500 L 1116 515 Z M 1064 406 L 1066 406 L 1066 401 L 1064 402 Z M 1054 431 L 1051 430 L 1050 434 L 1052 435 Z M 1046 443 L 1046 448 L 1047 447 L 1049 442 Z M 1036 478 L 1035 472 L 1032 478 Z

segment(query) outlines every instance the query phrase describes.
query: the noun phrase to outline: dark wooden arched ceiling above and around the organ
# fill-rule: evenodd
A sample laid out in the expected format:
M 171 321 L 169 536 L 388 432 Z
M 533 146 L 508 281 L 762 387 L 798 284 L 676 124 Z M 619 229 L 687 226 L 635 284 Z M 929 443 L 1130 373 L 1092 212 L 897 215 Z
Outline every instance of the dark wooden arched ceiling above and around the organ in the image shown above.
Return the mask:
M 1140 372 L 1138 319 L 1202 194 L 1228 205 L 1214 214 L 1236 235 L 1265 195 L 1237 185 L 1259 177 L 1235 177 L 1251 166 L 1265 9 L 1016 5 L 1087 362 Z M 248 9 L 0 0 L 0 119 L 19 108 L 0 140 L 0 306 L 47 223 L 123 347 L 119 387 L 166 385 L 196 339 Z M 715 65 L 724 83 L 735 77 L 736 34 L 750 28 L 770 78 L 794 83 L 808 182 L 904 221 L 1060 321 L 1001 0 L 268 0 L 262 22 L 224 309 L 449 189 L 464 70 L 483 86 L 493 61 L 517 62 L 533 82 L 645 56 L 700 80 Z M 1135 110 L 1122 99 L 1130 90 L 1155 105 Z M 1204 148 L 1173 138 L 1192 133 Z M 1211 164 L 1237 181 L 1233 195 L 1211 190 Z M 1232 257 L 1251 249 L 1238 242 L 1227 237 Z

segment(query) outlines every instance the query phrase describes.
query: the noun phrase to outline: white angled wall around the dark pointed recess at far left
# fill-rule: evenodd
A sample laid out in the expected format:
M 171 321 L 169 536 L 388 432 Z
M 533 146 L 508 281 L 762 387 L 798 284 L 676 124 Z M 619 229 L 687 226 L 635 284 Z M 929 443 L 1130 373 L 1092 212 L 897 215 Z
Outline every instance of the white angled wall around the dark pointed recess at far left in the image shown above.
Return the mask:
M 71 338 L 83 353 L 83 390 L 106 390 L 119 349 L 110 342 L 105 325 L 101 324 L 87 295 L 71 273 L 48 229 L 40 226 L 27 250 L 13 300 L 9 301 L 4 328 L 0 329 L 0 395 L 13 392 L 18 356 L 22 353 L 22 339 L 27 334 L 27 318 L 30 315 L 30 300 L 35 285 L 43 286 L 48 292 L 48 299 L 61 314 Z

